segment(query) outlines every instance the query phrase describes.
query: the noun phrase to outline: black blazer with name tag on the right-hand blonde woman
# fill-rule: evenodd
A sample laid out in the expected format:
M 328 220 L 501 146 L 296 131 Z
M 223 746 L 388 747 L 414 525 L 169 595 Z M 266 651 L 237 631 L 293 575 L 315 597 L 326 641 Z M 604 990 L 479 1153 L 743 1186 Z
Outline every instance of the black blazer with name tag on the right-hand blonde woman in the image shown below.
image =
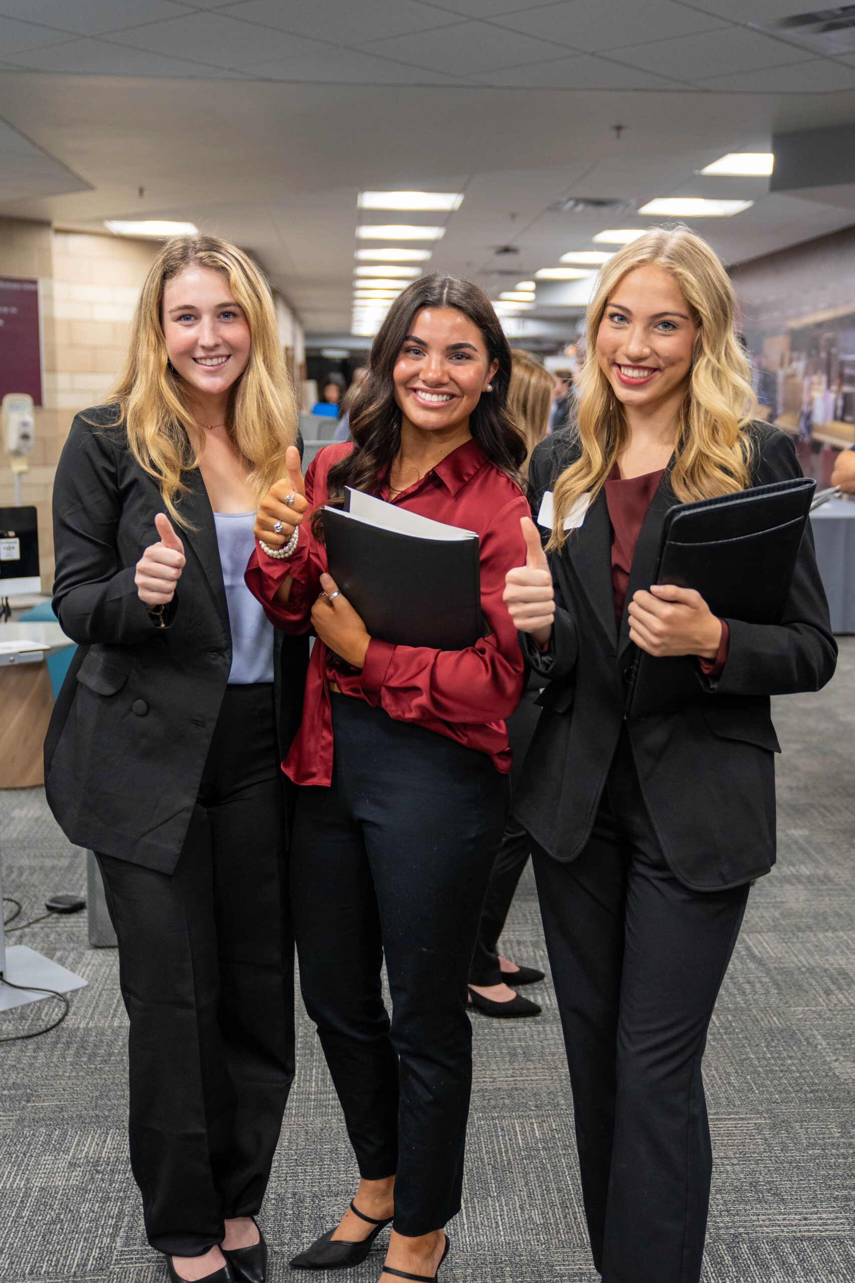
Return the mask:
M 752 484 L 801 476 L 788 436 L 752 426 Z M 528 476 L 535 513 L 545 490 L 574 458 L 573 429 L 535 449 Z M 677 499 L 669 473 L 652 498 L 632 561 L 627 606 L 652 582 L 663 518 Z M 611 523 L 601 490 L 560 556 L 549 554 L 555 626 L 547 653 L 520 634 L 526 659 L 549 685 L 523 766 L 514 812 L 556 860 L 585 847 L 624 724 L 627 677 L 636 654 L 627 608 L 615 627 Z M 819 690 L 834 671 L 837 645 L 817 570 L 810 526 L 779 625 L 728 620 L 724 670 L 697 667 L 699 703 L 628 721 L 651 821 L 672 871 L 687 887 L 736 887 L 769 871 L 776 857 L 773 753 L 779 752 L 769 695 Z

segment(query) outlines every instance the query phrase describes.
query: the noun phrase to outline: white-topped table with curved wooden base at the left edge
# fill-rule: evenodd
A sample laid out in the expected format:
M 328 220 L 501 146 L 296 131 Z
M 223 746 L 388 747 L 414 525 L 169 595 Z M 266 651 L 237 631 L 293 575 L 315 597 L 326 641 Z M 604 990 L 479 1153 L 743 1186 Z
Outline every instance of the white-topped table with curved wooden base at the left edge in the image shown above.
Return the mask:
M 28 649 L 26 643 L 45 649 Z M 45 659 L 74 645 L 59 624 L 0 624 L 0 789 L 45 783 L 42 748 L 54 707 Z

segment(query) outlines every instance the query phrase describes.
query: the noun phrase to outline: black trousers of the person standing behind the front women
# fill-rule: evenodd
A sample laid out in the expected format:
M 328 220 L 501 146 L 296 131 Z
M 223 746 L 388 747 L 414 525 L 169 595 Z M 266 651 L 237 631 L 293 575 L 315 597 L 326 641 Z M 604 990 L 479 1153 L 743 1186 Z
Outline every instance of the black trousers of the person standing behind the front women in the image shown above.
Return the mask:
M 531 690 L 523 692 L 517 709 L 508 718 L 508 739 L 514 753 L 510 767 L 511 797 L 540 717 L 540 708 L 535 704 L 537 695 L 536 685 Z M 509 816 L 487 884 L 476 952 L 469 967 L 469 984 L 502 983 L 504 978 L 499 966 L 499 937 L 505 928 L 508 911 L 523 869 L 528 863 L 528 834 L 519 820 Z

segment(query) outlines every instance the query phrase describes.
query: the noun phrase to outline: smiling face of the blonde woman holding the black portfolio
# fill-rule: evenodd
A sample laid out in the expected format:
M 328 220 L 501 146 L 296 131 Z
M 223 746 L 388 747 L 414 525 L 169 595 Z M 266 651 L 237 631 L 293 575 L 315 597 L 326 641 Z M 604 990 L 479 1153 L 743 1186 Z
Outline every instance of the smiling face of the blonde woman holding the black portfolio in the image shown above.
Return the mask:
M 597 331 L 597 362 L 618 400 L 652 409 L 679 402 L 692 366 L 697 322 L 664 267 L 638 267 L 615 287 Z

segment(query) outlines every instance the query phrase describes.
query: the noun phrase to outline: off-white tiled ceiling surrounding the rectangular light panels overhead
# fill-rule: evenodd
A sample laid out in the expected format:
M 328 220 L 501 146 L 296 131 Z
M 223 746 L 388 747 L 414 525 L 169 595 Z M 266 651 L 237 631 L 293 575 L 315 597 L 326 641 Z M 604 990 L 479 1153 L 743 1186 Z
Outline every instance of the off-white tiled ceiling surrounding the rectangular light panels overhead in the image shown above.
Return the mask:
M 743 260 L 855 221 L 846 204 L 769 194 L 768 180 L 696 174 L 768 150 L 776 130 L 855 121 L 855 55 L 750 26 L 809 8 L 0 0 L 0 212 L 78 227 L 192 219 L 254 249 L 318 335 L 349 327 L 365 187 L 465 192 L 440 216 L 431 267 L 491 293 L 615 221 L 643 226 L 632 209 L 654 196 L 752 199 L 695 223 Z M 574 195 L 631 209 L 552 210 Z M 505 244 L 519 254 L 496 257 Z

